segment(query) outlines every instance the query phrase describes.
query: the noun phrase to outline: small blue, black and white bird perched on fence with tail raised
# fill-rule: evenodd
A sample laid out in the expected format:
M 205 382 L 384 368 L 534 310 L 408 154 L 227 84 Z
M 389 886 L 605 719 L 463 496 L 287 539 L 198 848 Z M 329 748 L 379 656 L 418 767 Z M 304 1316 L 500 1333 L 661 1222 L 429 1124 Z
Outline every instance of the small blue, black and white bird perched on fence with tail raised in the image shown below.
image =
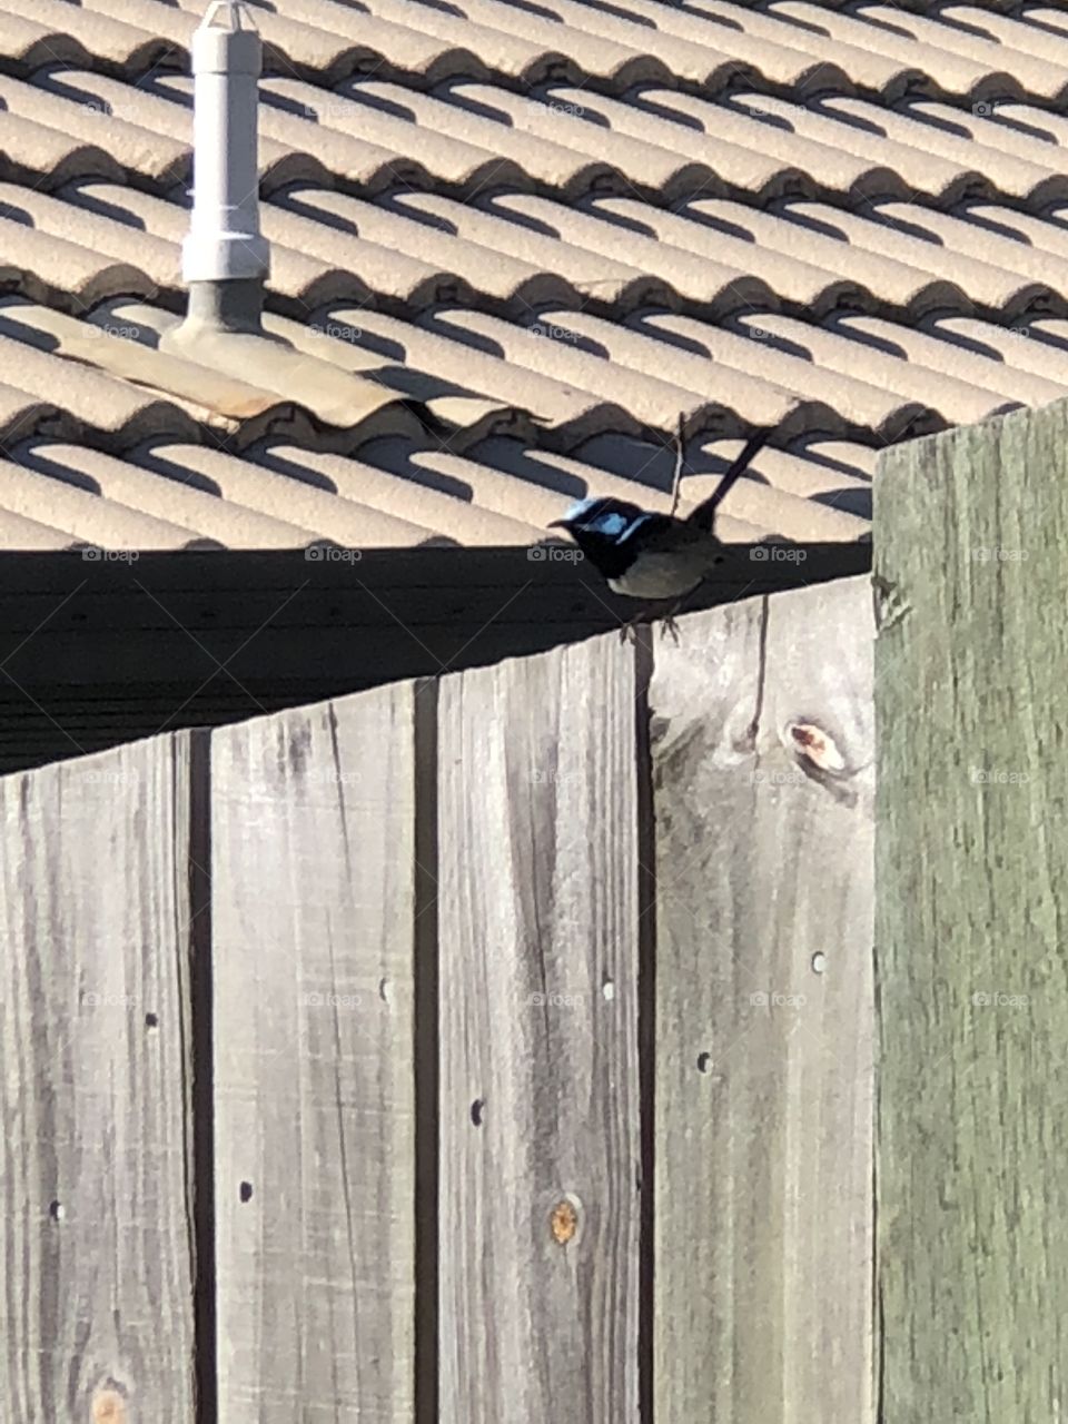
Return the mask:
M 723 560 L 723 544 L 715 533 L 716 510 L 772 430 L 772 426 L 760 426 L 749 436 L 715 494 L 698 504 L 685 520 L 674 514 L 654 514 L 627 500 L 601 497 L 580 500 L 547 527 L 564 528 L 614 594 L 651 604 L 674 600 L 664 615 L 664 631 L 678 641 L 674 615 Z M 624 625 L 624 637 L 641 617 L 638 614 Z

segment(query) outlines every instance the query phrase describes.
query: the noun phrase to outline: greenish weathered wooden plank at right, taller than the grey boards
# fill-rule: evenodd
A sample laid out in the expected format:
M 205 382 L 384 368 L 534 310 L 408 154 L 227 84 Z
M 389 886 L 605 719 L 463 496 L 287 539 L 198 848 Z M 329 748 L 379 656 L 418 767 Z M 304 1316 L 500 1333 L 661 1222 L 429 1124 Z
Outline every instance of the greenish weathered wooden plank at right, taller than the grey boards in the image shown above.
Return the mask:
M 1068 403 L 876 478 L 884 1417 L 1068 1420 Z

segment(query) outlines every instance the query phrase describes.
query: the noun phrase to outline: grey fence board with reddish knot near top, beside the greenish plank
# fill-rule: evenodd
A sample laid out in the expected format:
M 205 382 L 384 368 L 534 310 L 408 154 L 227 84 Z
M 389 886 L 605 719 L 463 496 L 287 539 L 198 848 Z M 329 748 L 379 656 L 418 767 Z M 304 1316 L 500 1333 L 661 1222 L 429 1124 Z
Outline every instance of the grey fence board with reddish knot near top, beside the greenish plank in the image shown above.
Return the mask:
M 873 1418 L 870 644 L 867 580 L 656 644 L 658 1424 Z

